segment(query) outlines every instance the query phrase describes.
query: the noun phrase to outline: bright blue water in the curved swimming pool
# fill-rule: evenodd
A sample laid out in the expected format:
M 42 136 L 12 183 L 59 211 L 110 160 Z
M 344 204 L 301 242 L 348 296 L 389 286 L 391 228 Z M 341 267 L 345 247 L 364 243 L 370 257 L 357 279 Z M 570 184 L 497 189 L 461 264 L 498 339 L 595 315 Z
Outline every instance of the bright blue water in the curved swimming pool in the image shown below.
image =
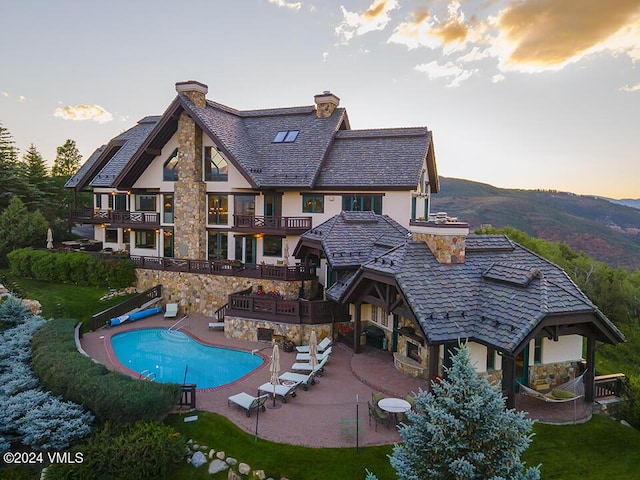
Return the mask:
M 120 363 L 134 372 L 160 383 L 195 383 L 197 388 L 231 383 L 264 361 L 259 355 L 203 345 L 163 328 L 118 333 L 111 337 L 111 346 Z

